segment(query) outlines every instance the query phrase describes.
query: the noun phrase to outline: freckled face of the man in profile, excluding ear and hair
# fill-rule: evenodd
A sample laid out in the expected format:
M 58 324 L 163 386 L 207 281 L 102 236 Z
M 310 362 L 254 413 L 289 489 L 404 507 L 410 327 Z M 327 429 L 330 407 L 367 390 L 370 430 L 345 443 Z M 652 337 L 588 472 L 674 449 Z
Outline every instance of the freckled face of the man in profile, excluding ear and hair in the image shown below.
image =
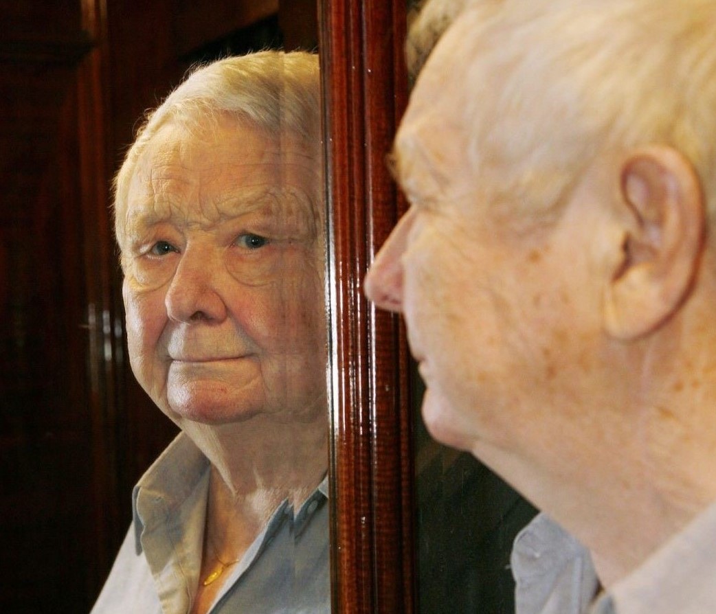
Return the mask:
M 511 207 L 523 203 L 490 200 L 494 186 L 470 165 L 460 109 L 499 83 L 475 89 L 462 39 L 451 34 L 423 69 L 397 133 L 396 175 L 411 208 L 366 288 L 405 316 L 428 429 L 474 452 L 483 442 L 513 448 L 521 429 L 538 430 L 538 414 L 569 397 L 564 382 L 586 368 L 599 323 L 585 306 L 599 301 L 581 288 L 579 237 L 598 214 L 575 205 L 554 225 L 527 228 Z M 499 179 L 493 169 L 490 181 Z

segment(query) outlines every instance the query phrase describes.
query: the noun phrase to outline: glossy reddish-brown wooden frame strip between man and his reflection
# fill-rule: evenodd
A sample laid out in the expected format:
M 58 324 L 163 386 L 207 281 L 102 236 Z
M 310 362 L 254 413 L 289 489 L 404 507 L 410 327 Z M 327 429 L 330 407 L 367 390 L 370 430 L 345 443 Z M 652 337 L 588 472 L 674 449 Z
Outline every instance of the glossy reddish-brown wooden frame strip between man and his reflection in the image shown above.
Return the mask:
M 415 611 L 408 352 L 362 293 L 405 209 L 385 156 L 407 100 L 405 0 L 319 1 L 329 198 L 334 614 Z

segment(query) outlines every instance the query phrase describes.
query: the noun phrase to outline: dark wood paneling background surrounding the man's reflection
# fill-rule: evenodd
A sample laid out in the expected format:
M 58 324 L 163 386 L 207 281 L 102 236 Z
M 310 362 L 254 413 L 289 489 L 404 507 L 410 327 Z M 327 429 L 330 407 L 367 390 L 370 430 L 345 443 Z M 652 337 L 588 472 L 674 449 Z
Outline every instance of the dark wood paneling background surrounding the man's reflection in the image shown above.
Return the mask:
M 111 177 L 137 120 L 189 64 L 249 31 L 254 47 L 273 44 L 271 28 L 312 47 L 316 7 L 29 0 L 3 3 L 0 24 L 0 609 L 87 612 L 127 532 L 132 485 L 176 434 L 127 361 Z

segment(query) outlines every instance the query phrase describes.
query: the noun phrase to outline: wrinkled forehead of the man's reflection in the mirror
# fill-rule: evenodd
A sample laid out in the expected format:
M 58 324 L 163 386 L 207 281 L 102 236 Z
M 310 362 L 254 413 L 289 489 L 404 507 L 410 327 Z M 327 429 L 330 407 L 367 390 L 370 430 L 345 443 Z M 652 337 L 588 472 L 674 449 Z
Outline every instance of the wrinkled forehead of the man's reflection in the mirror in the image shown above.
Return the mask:
M 192 130 L 170 122 L 137 160 L 127 225 L 177 215 L 211 223 L 251 207 L 271 205 L 268 213 L 278 213 L 277 207 L 291 203 L 317 210 L 317 155 L 317 147 L 311 150 L 295 135 L 275 137 L 231 118 Z

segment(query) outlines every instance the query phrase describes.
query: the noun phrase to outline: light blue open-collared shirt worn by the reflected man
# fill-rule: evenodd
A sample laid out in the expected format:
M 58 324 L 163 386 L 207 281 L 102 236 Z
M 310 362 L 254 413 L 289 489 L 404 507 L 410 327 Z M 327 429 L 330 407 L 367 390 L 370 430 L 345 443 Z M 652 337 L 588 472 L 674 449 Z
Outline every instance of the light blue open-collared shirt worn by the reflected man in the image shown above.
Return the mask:
M 133 492 L 134 520 L 92 614 L 183 614 L 199 583 L 210 464 L 180 434 Z M 276 508 L 211 614 L 329 614 L 327 479 L 294 513 Z

